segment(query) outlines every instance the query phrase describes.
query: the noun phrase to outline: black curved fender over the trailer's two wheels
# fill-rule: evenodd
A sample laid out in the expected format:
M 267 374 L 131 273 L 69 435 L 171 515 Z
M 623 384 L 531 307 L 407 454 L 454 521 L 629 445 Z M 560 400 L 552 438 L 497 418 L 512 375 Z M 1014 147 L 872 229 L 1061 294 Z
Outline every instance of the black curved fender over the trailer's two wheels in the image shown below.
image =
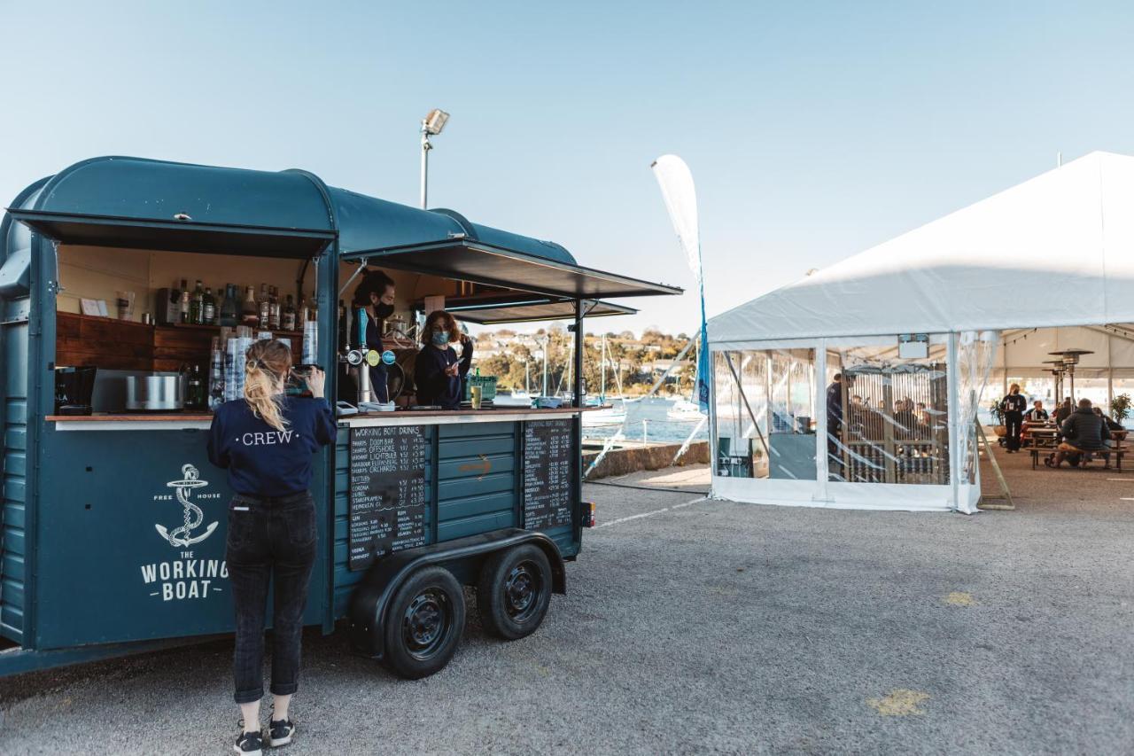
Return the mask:
M 393 594 L 401 582 L 422 566 L 483 556 L 521 544 L 534 544 L 543 549 L 551 563 L 551 590 L 567 593 L 567 572 L 559 547 L 548 536 L 534 530 L 503 528 L 440 544 L 407 548 L 374 562 L 350 596 L 347 613 L 350 642 L 359 653 L 381 658 L 382 627 Z

